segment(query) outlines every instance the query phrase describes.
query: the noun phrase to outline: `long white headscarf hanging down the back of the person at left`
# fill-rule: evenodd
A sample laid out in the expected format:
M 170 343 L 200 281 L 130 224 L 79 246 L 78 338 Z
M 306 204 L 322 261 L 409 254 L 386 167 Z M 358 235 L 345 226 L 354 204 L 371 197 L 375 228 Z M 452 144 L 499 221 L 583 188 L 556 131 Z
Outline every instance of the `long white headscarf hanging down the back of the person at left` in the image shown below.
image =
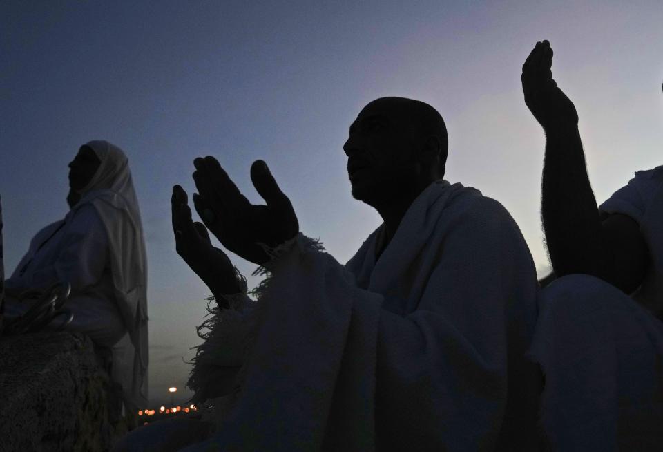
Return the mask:
M 131 341 L 128 359 L 113 357 L 112 377 L 122 384 L 124 402 L 133 410 L 147 403 L 147 265 L 140 210 L 122 149 L 102 140 L 84 146 L 101 164 L 79 191 L 81 200 L 73 210 L 93 205 L 106 227 L 115 299 Z

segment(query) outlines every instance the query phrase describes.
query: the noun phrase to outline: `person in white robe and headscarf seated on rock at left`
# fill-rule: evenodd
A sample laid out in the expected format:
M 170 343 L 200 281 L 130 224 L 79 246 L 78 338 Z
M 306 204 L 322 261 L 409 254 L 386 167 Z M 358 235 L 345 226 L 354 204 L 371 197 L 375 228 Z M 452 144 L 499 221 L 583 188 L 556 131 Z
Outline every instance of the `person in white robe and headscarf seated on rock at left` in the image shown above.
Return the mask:
M 64 308 L 73 321 L 66 330 L 110 350 L 111 378 L 122 386 L 126 408 L 137 410 L 146 403 L 146 265 L 128 160 L 113 144 L 93 141 L 69 167 L 70 211 L 37 233 L 6 280 L 6 316 L 28 309 L 29 299 L 17 300 L 21 293 L 69 283 Z

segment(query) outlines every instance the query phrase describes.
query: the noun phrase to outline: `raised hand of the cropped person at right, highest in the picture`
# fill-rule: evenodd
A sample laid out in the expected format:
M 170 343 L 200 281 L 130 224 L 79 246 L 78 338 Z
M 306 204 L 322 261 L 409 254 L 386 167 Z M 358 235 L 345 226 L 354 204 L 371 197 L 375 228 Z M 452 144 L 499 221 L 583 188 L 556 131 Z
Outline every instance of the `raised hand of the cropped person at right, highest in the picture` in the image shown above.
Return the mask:
M 550 42 L 537 42 L 523 64 L 525 104 L 544 129 L 577 126 L 578 113 L 573 102 L 553 80 L 553 49 Z

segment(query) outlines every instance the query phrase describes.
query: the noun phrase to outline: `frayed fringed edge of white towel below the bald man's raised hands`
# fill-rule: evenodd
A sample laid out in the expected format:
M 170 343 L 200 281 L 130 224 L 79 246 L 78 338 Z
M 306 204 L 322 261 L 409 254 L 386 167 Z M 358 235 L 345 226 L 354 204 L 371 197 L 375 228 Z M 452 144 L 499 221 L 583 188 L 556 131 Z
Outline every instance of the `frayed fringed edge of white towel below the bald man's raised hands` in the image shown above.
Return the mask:
M 214 296 L 208 296 L 207 318 L 196 328 L 198 337 L 204 342 L 195 348 L 195 357 L 191 360 L 193 368 L 186 386 L 193 390 L 191 402 L 202 411 L 204 420 L 209 420 L 218 428 L 227 413 L 236 405 L 247 377 L 247 363 L 250 361 L 251 350 L 255 343 L 260 325 L 262 325 L 262 306 L 267 300 L 269 286 L 273 281 L 274 272 L 280 258 L 291 252 L 305 254 L 308 252 L 324 252 L 325 247 L 319 238 L 309 238 L 297 234 L 277 247 L 269 247 L 258 243 L 265 249 L 269 261 L 260 265 L 253 276 L 264 276 L 258 286 L 247 291 L 244 276 L 236 270 L 238 280 L 242 281 L 243 292 L 224 295 L 229 308 L 222 309 L 218 305 L 211 307 Z M 248 295 L 256 301 L 251 301 Z M 238 368 L 232 390 L 222 397 L 209 398 L 208 387 L 213 384 L 214 369 Z

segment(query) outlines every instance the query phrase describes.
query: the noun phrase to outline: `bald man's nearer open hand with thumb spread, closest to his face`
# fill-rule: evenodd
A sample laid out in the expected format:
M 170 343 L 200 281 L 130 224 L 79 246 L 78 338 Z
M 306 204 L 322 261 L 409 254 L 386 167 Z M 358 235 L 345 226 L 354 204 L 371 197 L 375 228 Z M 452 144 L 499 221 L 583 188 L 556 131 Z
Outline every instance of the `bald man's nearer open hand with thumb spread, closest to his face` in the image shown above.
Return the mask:
M 193 196 L 195 209 L 231 252 L 262 265 L 269 256 L 259 244 L 276 247 L 299 232 L 290 200 L 262 160 L 251 165 L 251 181 L 267 205 L 249 203 L 215 158 L 197 158 L 193 164 L 193 180 L 198 188 L 198 195 Z

